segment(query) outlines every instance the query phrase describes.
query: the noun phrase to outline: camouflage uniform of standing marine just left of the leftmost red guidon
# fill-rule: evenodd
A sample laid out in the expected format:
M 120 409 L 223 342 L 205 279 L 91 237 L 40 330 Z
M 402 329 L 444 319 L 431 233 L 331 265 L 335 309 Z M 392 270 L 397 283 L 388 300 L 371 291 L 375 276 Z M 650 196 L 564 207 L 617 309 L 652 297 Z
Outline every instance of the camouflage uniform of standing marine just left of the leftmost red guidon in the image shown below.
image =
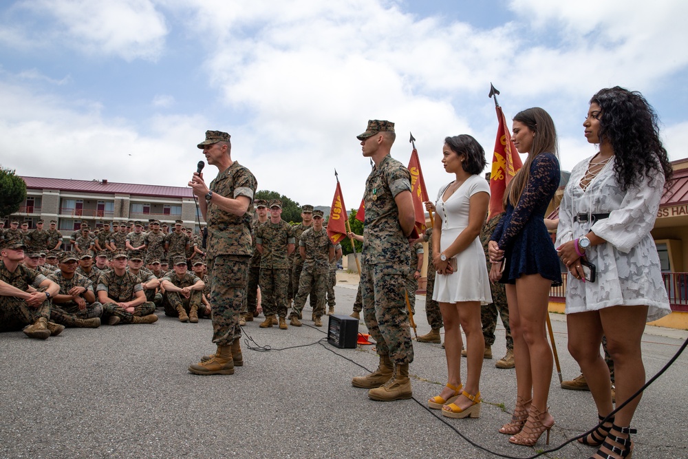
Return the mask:
M 301 247 L 305 248 L 305 260 L 290 317 L 299 317 L 306 297 L 312 292 L 315 292 L 317 299 L 313 315 L 321 317 L 325 314 L 325 293 L 330 277 L 330 248 L 334 248 L 334 245 L 325 228 L 317 232 L 313 228 L 308 228 L 299 239 L 299 248 Z

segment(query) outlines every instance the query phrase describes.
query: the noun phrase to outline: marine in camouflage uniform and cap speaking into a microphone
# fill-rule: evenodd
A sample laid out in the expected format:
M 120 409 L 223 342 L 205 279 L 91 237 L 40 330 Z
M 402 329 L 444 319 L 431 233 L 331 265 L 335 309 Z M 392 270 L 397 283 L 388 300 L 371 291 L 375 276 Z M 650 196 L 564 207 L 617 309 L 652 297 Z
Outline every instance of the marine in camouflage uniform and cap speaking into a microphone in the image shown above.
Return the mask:
M 206 162 L 218 169 L 208 187 L 201 175 L 201 161 L 189 182 L 207 222 L 206 262 L 211 286 L 208 300 L 213 310 L 212 341 L 217 350 L 189 366 L 189 372 L 234 374 L 235 365 L 244 365 L 239 315 L 246 295 L 248 261 L 253 253 L 250 222 L 258 183 L 251 171 L 232 160 L 232 144 L 226 132 L 206 131 L 206 139 L 197 147 L 203 151 Z

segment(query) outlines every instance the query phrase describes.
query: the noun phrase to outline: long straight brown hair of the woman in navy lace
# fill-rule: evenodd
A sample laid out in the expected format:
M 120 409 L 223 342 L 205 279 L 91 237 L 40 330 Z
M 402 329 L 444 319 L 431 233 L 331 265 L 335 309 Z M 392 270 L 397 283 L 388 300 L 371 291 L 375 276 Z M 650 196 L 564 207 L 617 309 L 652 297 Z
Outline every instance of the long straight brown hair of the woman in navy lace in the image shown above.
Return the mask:
M 530 178 L 530 164 L 533 164 L 535 157 L 540 153 L 552 153 L 557 156 L 557 130 L 550 114 L 540 107 L 533 107 L 519 111 L 513 120 L 528 126 L 528 129 L 535 132 L 535 137 L 533 137 L 533 147 L 528 151 L 526 162 L 506 186 L 504 192 L 505 209 L 507 202 L 516 206 L 521 198 L 528 178 Z

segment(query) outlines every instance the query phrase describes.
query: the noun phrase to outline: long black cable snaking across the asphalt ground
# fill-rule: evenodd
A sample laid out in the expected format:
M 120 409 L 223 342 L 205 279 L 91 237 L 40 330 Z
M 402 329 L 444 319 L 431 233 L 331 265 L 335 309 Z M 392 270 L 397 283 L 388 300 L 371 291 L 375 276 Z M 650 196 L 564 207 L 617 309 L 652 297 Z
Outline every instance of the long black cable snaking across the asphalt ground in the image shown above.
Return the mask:
M 307 327 L 310 327 L 310 328 L 312 328 L 312 329 L 314 329 L 314 330 L 317 330 L 317 331 L 319 331 L 319 332 L 321 332 L 321 333 L 327 334 L 327 332 L 321 330 L 320 328 L 312 327 L 311 325 L 308 325 L 308 324 L 304 324 L 304 325 L 307 326 Z M 241 330 L 244 330 L 244 328 L 242 327 Z M 323 346 L 323 348 L 325 348 L 326 350 L 332 352 L 332 354 L 335 354 L 336 356 L 340 356 L 342 359 L 345 359 L 345 360 L 347 360 L 347 361 L 350 361 L 350 362 L 353 363 L 354 365 L 356 365 L 356 366 L 358 366 L 358 367 L 361 367 L 363 370 L 365 370 L 365 371 L 367 371 L 367 372 L 369 372 L 369 373 L 372 372 L 371 370 L 369 370 L 369 369 L 366 368 L 365 366 L 361 365 L 360 363 L 354 361 L 353 359 L 350 359 L 349 357 L 344 356 L 344 355 L 342 355 L 342 354 L 339 354 L 338 352 L 335 352 L 333 349 L 330 349 L 330 347 L 328 347 L 328 346 L 325 345 L 325 343 L 324 343 L 324 341 L 327 339 L 327 337 L 321 338 L 321 339 L 319 339 L 318 341 L 314 341 L 313 343 L 309 343 L 309 344 L 302 344 L 302 345 L 290 346 L 290 347 L 288 347 L 288 348 L 276 349 L 276 348 L 270 348 L 270 346 L 260 346 L 260 345 L 258 345 L 258 343 L 256 343 L 256 342 L 250 337 L 250 335 L 249 335 L 248 333 L 246 333 L 246 336 L 248 337 L 248 339 L 250 339 L 250 341 L 252 341 L 253 343 L 256 344 L 256 347 L 255 347 L 255 348 L 252 348 L 252 347 L 248 346 L 248 340 L 247 340 L 247 339 L 244 339 L 244 343 L 246 343 L 246 346 L 248 347 L 248 349 L 255 350 L 255 351 L 257 351 L 257 352 L 266 352 L 266 351 L 270 351 L 270 350 L 288 350 L 288 349 L 294 349 L 294 348 L 305 348 L 305 347 L 308 347 L 308 346 L 312 346 L 312 345 L 314 345 L 314 344 L 320 344 L 321 346 Z M 661 370 L 659 370 L 659 372 L 657 372 L 657 374 L 655 374 L 654 376 L 652 376 L 652 378 L 649 378 L 649 380 L 643 385 L 643 387 L 641 387 L 640 389 L 638 389 L 638 391 L 637 391 L 635 394 L 633 394 L 633 396 L 631 396 L 627 401 L 621 403 L 621 405 L 618 405 L 618 406 L 616 407 L 616 409 L 614 409 L 614 411 L 612 411 L 610 414 L 608 414 L 608 416 L 607 416 L 606 418 L 604 418 L 603 420 L 601 420 L 600 423 L 599 423 L 598 425 L 596 425 L 596 426 L 593 427 L 592 429 L 590 429 L 590 430 L 584 432 L 583 434 L 581 434 L 581 435 L 579 435 L 579 436 L 576 436 L 576 437 L 573 437 L 573 438 L 569 438 L 568 440 L 566 440 L 565 442 L 561 443 L 561 445 L 559 445 L 559 446 L 557 446 L 557 447 L 554 447 L 554 448 L 550 448 L 550 449 L 546 449 L 546 450 L 544 450 L 544 451 L 541 451 L 540 453 L 535 454 L 535 456 L 526 456 L 526 457 L 523 457 L 523 456 L 508 456 L 508 455 L 506 455 L 506 454 L 496 453 L 495 451 L 492 451 L 491 449 L 487 449 L 486 447 L 483 447 L 482 445 L 480 445 L 480 444 L 478 444 L 478 443 L 476 443 L 476 442 L 473 442 L 473 440 L 471 440 L 470 438 L 466 437 L 466 436 L 465 436 L 464 434 L 462 434 L 456 427 L 454 427 L 454 426 L 451 425 L 449 422 L 447 422 L 447 420 L 445 420 L 443 416 L 438 416 L 437 414 L 435 414 L 435 413 L 433 412 L 433 410 L 431 410 L 429 407 L 427 407 L 427 404 L 426 404 L 426 403 L 419 401 L 418 398 L 415 398 L 415 397 L 411 397 L 411 398 L 413 399 L 413 401 L 415 401 L 416 403 L 418 403 L 418 405 L 420 405 L 420 407 L 422 407 L 423 409 L 425 409 L 425 411 L 429 412 L 429 414 L 431 414 L 434 418 L 440 420 L 444 425 L 447 425 L 447 427 L 449 427 L 450 429 L 452 429 L 453 431 L 455 431 L 461 438 L 463 438 L 464 440 L 466 440 L 466 442 L 468 442 L 470 445 L 472 445 L 473 447 L 475 447 L 475 448 L 477 448 L 477 449 L 481 449 L 482 451 L 485 451 L 486 453 L 490 453 L 490 454 L 492 454 L 493 456 L 497 456 L 497 457 L 499 457 L 499 458 L 506 458 L 506 459 L 535 459 L 535 458 L 539 458 L 540 456 L 543 456 L 544 454 L 553 453 L 553 452 L 555 452 L 555 451 L 559 451 L 559 449 L 565 447 L 565 446 L 568 445 L 569 443 L 572 443 L 572 442 L 578 440 L 579 438 L 583 438 L 583 437 L 586 437 L 586 436 L 592 434 L 592 432 L 593 432 L 594 430 L 596 430 L 598 427 L 601 427 L 604 423 L 608 422 L 608 420 L 609 420 L 610 418 L 612 418 L 612 417 L 614 416 L 614 414 L 616 414 L 616 412 L 619 411 L 619 409 L 622 409 L 623 407 L 625 407 L 626 405 L 628 405 L 628 403 L 630 403 L 630 401 L 632 401 L 634 398 L 636 398 L 638 395 L 640 395 L 642 392 L 644 392 L 645 389 L 647 389 L 647 387 L 649 387 L 649 385 L 651 385 L 652 383 L 654 383 L 654 381 L 656 381 L 656 380 L 659 378 L 659 376 L 662 376 L 662 374 L 664 374 L 664 373 L 669 369 L 669 367 L 671 367 L 671 365 L 674 364 L 674 362 L 676 361 L 676 359 L 678 359 L 678 357 L 683 353 L 683 351 L 684 351 L 685 348 L 686 348 L 686 345 L 688 345 L 688 340 L 686 340 L 686 341 L 683 342 L 683 344 L 682 344 L 681 347 L 678 349 L 678 351 L 676 351 L 676 354 L 674 354 L 674 356 L 671 357 L 671 359 L 669 359 L 669 361 L 662 367 Z

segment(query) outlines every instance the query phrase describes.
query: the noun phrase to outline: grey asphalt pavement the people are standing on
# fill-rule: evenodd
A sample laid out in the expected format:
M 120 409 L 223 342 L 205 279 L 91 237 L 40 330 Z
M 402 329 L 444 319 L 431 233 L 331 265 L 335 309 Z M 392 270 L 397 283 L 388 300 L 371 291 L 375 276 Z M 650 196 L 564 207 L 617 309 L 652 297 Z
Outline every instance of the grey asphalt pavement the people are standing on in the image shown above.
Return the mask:
M 336 314 L 350 314 L 356 286 L 336 287 Z M 416 302 L 418 334 L 429 331 L 424 299 Z M 550 444 L 510 445 L 497 429 L 510 419 L 515 372 L 499 370 L 504 328 L 493 360 L 485 360 L 478 419 L 447 419 L 426 409 L 446 382 L 444 350 L 416 343 L 413 399 L 376 402 L 351 378 L 378 362 L 371 345 L 339 349 L 323 327 L 244 327 L 244 366 L 232 376 L 197 376 L 186 369 L 214 352 L 211 321 L 69 328 L 47 341 L 22 332 L 0 334 L 0 458 L 528 458 L 555 448 L 596 423 L 590 392 L 563 390 L 555 369 Z M 579 374 L 566 350 L 566 317 L 550 314 L 564 379 Z M 361 322 L 361 332 L 365 325 Z M 688 332 L 647 327 L 647 378 L 679 350 Z M 643 395 L 634 418 L 634 458 L 687 458 L 688 413 L 683 354 Z M 465 365 L 465 359 L 462 359 Z M 465 372 L 465 366 L 463 367 Z M 548 458 L 588 458 L 572 442 Z

